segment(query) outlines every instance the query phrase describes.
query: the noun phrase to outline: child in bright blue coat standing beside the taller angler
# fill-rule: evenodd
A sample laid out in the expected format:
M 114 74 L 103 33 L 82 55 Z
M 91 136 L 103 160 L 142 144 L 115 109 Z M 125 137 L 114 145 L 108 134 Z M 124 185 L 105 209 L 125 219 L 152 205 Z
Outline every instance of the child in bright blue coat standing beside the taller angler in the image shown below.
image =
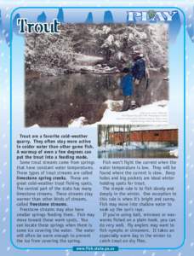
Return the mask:
M 128 67 L 123 68 L 123 78 L 121 79 L 121 88 L 123 90 L 123 108 L 122 111 L 127 111 L 132 106 L 133 96 L 133 76 Z

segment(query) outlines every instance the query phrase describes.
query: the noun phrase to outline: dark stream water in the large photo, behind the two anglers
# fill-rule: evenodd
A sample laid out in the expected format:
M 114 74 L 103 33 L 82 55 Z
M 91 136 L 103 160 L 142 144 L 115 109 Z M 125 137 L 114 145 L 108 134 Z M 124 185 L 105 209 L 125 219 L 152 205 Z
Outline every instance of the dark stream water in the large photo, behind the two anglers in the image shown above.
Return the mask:
M 123 99 L 120 76 L 72 73 L 26 79 L 26 126 L 67 126 L 71 119 L 81 116 L 88 124 L 100 121 L 106 109 L 103 102 Z M 153 77 L 157 82 L 151 79 L 142 95 L 145 104 L 168 98 L 167 84 L 158 83 L 158 75 Z

